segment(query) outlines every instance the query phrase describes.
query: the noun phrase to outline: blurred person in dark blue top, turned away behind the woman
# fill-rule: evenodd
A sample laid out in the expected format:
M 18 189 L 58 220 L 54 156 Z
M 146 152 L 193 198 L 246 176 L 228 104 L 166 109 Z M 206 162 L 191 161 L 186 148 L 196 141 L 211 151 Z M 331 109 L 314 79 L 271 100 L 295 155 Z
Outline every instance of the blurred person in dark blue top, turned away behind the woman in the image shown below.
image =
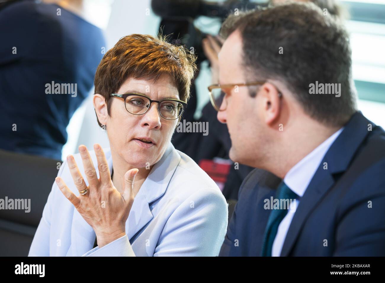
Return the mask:
M 92 88 L 105 40 L 83 1 L 47 2 L 0 10 L 0 148 L 61 159 L 66 127 Z

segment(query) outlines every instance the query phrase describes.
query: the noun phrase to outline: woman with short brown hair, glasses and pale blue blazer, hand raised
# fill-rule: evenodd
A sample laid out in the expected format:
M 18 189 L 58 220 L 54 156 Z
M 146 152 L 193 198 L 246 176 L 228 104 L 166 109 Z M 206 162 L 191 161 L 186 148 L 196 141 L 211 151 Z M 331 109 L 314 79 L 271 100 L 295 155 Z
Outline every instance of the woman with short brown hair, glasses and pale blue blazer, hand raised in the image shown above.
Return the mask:
M 226 201 L 171 144 L 194 61 L 182 47 L 139 34 L 123 37 L 105 54 L 93 102 L 110 149 L 80 146 L 79 154 L 67 157 L 29 256 L 219 254 Z

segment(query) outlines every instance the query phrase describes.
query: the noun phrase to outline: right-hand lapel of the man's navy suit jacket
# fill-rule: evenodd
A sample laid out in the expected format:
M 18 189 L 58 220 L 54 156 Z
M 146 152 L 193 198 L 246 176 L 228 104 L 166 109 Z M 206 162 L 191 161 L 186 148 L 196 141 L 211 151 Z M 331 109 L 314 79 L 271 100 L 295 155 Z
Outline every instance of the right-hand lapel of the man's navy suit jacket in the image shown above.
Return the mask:
M 348 168 L 355 152 L 357 152 L 358 147 L 369 133 L 368 124 L 372 124 L 373 128 L 375 127 L 375 124 L 358 111 L 352 116 L 340 136 L 337 137 L 328 152 L 326 152 L 305 194 L 300 199 L 300 204 L 296 209 L 286 234 L 281 256 L 288 256 L 290 254 L 306 218 L 316 208 L 317 203 L 321 201 L 326 192 L 334 185 L 335 179 L 333 176 L 346 171 Z M 323 169 L 324 162 L 327 162 L 328 169 Z

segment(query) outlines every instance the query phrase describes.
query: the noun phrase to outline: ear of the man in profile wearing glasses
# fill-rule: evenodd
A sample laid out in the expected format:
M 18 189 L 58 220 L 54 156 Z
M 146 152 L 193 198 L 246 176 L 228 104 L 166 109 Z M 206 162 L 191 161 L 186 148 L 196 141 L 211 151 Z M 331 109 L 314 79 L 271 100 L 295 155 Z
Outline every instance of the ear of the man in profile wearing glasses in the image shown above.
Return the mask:
M 281 115 L 280 94 L 273 84 L 266 82 L 259 89 L 258 96 L 261 97 L 259 102 L 261 102 L 263 119 L 266 124 L 271 126 Z

